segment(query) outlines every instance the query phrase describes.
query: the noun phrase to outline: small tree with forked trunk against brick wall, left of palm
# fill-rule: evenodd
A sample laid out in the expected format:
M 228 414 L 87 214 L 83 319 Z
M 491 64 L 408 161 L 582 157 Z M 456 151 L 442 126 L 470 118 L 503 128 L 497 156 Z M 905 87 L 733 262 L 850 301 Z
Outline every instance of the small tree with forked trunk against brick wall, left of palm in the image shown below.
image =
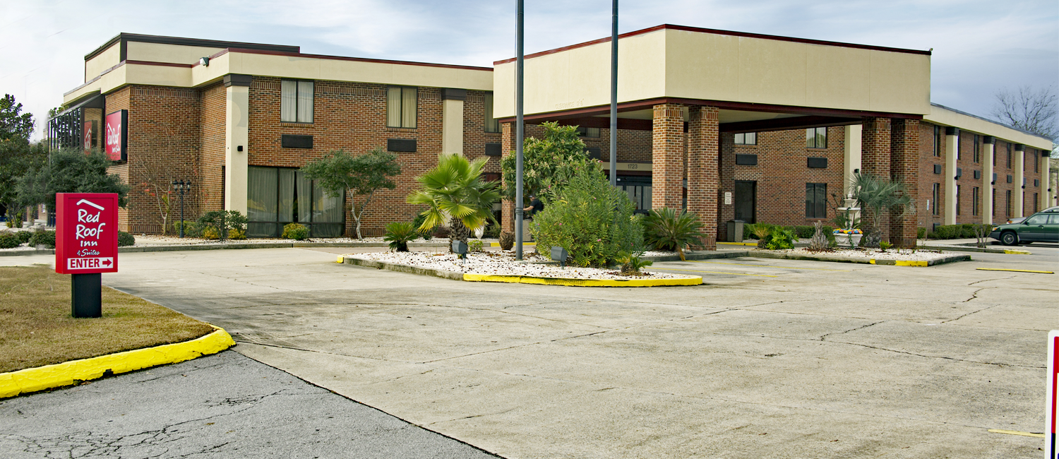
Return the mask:
M 359 240 L 363 239 L 360 224 L 372 197 L 380 189 L 397 188 L 391 177 L 400 175 L 400 164 L 397 164 L 397 155 L 380 147 L 360 156 L 351 156 L 339 149 L 305 164 L 302 173 L 306 178 L 317 180 L 317 184 L 333 197 L 341 196 L 343 191 L 349 193 L 349 216 L 356 222 Z M 358 197 L 363 198 L 359 208 Z

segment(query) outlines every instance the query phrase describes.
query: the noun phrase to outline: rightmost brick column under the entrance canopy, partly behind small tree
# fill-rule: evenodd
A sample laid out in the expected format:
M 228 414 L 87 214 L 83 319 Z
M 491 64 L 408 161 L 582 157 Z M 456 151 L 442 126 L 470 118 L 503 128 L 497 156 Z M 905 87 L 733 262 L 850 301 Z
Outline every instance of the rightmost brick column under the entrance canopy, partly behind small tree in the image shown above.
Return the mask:
M 908 195 L 919 197 L 919 120 L 891 120 L 890 178 L 908 188 Z M 890 242 L 897 247 L 916 246 L 916 214 L 891 215 Z

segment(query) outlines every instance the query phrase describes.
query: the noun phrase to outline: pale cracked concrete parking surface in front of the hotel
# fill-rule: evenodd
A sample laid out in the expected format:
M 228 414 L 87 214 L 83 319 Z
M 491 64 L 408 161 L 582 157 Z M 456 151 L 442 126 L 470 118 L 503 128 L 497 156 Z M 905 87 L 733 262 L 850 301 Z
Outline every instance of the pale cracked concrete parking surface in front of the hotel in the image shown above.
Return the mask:
M 226 328 L 253 359 L 507 458 L 1036 458 L 1043 439 L 987 429 L 1043 430 L 1059 278 L 975 270 L 1059 267 L 1055 247 L 1028 249 L 934 267 L 659 263 L 706 280 L 661 288 L 480 284 L 340 265 L 327 250 L 216 250 L 123 254 L 104 282 Z

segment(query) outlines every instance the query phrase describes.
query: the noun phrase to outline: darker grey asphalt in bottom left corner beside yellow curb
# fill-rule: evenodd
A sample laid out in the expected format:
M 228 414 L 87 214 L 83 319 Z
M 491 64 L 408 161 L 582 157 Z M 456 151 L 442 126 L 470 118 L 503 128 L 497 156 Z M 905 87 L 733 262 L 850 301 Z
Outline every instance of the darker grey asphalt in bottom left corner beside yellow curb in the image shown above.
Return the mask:
M 0 401 L 0 457 L 496 456 L 226 351 Z

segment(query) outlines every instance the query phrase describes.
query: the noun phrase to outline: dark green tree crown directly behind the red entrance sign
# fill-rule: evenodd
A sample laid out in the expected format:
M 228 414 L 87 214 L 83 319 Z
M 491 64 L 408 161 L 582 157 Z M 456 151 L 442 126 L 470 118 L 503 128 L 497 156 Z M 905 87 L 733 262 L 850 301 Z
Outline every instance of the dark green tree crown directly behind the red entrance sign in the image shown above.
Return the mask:
M 125 207 L 129 187 L 118 175 L 107 174 L 110 165 L 102 152 L 55 151 L 49 162 L 26 171 L 16 190 L 23 202 L 46 204 L 49 209 L 55 209 L 56 193 L 118 193 L 118 205 Z

